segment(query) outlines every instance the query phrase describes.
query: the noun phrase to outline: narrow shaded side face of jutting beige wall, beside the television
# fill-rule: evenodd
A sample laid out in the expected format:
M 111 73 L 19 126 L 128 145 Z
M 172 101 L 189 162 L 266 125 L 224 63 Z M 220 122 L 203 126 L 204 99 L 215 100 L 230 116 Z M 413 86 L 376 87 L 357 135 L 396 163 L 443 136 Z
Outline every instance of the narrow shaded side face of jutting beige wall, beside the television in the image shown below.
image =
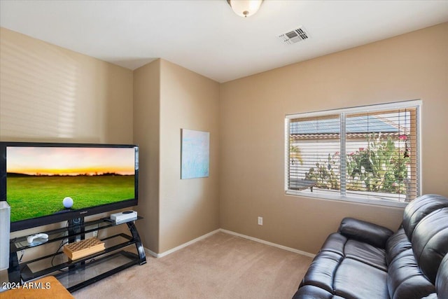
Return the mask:
M 159 252 L 160 60 L 134 71 L 134 142 L 139 144 L 137 221 L 144 246 Z

